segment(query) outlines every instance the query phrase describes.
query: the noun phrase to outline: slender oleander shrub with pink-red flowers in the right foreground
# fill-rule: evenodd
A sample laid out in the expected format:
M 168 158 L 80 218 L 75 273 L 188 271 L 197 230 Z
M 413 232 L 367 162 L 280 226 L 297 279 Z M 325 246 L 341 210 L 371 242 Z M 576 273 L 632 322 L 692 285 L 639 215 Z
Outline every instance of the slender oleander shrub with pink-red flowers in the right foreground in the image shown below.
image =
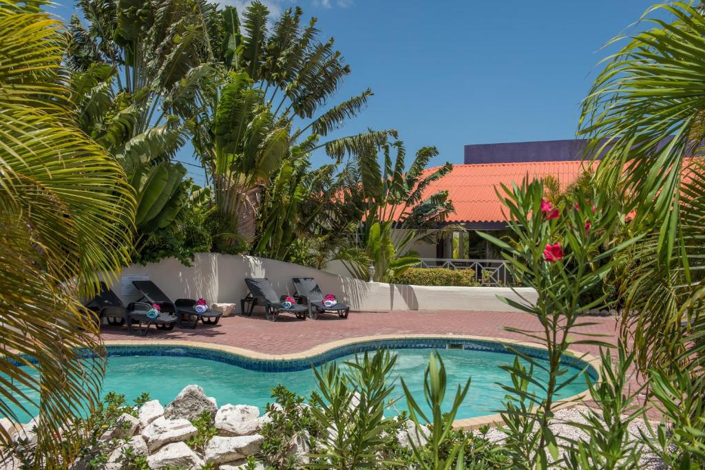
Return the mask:
M 522 298 L 505 302 L 536 316 L 541 324 L 538 330 L 508 330 L 544 345 L 548 361 L 544 365 L 511 347 L 522 361 L 506 368 L 513 376 L 513 385 L 505 386 L 512 398 L 503 414 L 510 434 L 508 448 L 516 468 L 546 469 L 549 462 L 559 459 L 556 435 L 548 424 L 560 398 L 565 397 L 562 390 L 576 380 L 584 380 L 585 371 L 571 372 L 563 364 L 563 357 L 572 345 L 608 346 L 590 335 L 575 337 L 576 328 L 591 325 L 581 315 L 606 304 L 605 295 L 587 304 L 581 299 L 615 267 L 613 254 L 635 239 L 613 245 L 612 233 L 620 214 L 617 207 L 603 204 L 608 194 L 599 188 L 594 188 L 589 198 L 577 194 L 575 200 L 562 202 L 562 211 L 544 199 L 540 181 L 527 179 L 520 187 L 503 186 L 499 195 L 508 211 L 515 243 L 508 245 L 491 235 L 482 236 L 503 250 L 512 276 L 538 293 L 536 301 Z M 534 378 L 532 372 L 538 369 L 546 372 L 548 381 Z M 540 390 L 540 398 L 529 392 L 529 384 Z

